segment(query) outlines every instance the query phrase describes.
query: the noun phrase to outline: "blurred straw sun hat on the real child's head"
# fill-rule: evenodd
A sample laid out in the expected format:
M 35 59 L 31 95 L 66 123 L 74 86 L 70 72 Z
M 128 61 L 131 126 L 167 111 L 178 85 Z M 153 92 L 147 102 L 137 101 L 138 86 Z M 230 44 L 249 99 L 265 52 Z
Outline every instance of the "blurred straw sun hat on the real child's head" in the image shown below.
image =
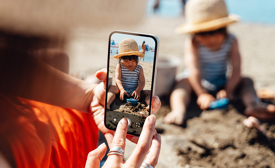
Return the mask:
M 175 32 L 209 32 L 239 21 L 238 15 L 228 15 L 224 0 L 188 0 L 185 17 L 186 23 L 180 25 Z

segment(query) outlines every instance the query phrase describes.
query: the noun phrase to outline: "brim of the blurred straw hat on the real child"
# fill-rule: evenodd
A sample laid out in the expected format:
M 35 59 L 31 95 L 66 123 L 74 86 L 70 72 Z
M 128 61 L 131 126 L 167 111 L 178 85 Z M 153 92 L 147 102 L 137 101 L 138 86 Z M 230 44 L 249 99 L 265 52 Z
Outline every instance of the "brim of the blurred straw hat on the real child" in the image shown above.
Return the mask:
M 227 25 L 239 21 L 239 16 L 235 14 L 231 14 L 228 17 L 222 17 L 219 19 L 214 19 L 212 21 L 207 21 L 203 23 L 197 24 L 190 24 L 184 23 L 175 29 L 177 34 L 184 34 L 184 33 L 200 33 L 200 32 L 209 32 L 214 31 Z

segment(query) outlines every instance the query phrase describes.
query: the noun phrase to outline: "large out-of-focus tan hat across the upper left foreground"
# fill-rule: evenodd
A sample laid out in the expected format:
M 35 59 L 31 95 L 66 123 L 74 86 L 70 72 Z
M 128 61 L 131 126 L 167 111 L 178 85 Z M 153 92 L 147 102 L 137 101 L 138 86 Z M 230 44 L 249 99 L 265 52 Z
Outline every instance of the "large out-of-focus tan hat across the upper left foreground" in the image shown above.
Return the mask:
M 55 37 L 78 27 L 137 24 L 145 5 L 145 0 L 1 0 L 0 30 Z

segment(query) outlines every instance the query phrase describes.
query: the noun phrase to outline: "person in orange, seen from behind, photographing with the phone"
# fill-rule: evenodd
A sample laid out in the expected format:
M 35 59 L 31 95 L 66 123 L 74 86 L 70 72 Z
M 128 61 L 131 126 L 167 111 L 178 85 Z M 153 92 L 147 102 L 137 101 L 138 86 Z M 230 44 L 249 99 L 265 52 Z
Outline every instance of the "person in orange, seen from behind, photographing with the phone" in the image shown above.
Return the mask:
M 98 130 L 110 147 L 124 149 L 125 144 L 118 142 L 120 137 L 126 137 L 127 123 L 121 120 L 114 138 L 114 131 L 108 130 L 103 122 L 106 69 L 96 72 L 100 84 L 74 78 L 67 74 L 69 56 L 64 48 L 69 32 L 77 25 L 103 26 L 96 22 L 98 16 L 93 12 L 99 10 L 102 19 L 115 2 L 100 8 L 94 4 L 98 1 L 25 3 L 0 2 L 6 9 L 0 11 L 0 160 L 5 167 L 84 167 L 88 156 L 86 167 L 99 167 L 106 145 L 96 148 Z M 152 112 L 157 112 L 160 105 L 154 97 Z M 151 147 L 153 153 L 145 158 L 144 152 L 137 152 L 135 162 L 125 162 L 124 167 L 145 163 L 155 167 L 157 163 L 160 135 L 154 129 L 155 116 L 147 120 L 147 128 L 140 136 L 147 143 L 139 143 L 137 150 L 147 153 Z M 138 143 L 138 137 L 127 138 Z M 113 153 L 105 164 L 122 167 L 122 155 Z

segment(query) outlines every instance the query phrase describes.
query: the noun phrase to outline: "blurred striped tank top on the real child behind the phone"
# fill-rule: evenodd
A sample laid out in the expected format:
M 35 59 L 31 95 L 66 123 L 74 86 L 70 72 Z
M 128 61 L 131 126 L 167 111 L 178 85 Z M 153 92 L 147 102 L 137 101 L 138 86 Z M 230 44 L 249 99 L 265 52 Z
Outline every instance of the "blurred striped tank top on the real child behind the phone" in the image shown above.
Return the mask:
M 229 54 L 235 37 L 228 34 L 221 48 L 216 51 L 209 50 L 207 47 L 198 45 L 199 69 L 203 87 L 205 84 L 220 87 L 226 83 L 226 72 Z M 204 84 L 205 83 L 205 84 Z M 213 88 L 215 90 L 215 88 Z M 210 89 L 212 90 L 212 89 Z

